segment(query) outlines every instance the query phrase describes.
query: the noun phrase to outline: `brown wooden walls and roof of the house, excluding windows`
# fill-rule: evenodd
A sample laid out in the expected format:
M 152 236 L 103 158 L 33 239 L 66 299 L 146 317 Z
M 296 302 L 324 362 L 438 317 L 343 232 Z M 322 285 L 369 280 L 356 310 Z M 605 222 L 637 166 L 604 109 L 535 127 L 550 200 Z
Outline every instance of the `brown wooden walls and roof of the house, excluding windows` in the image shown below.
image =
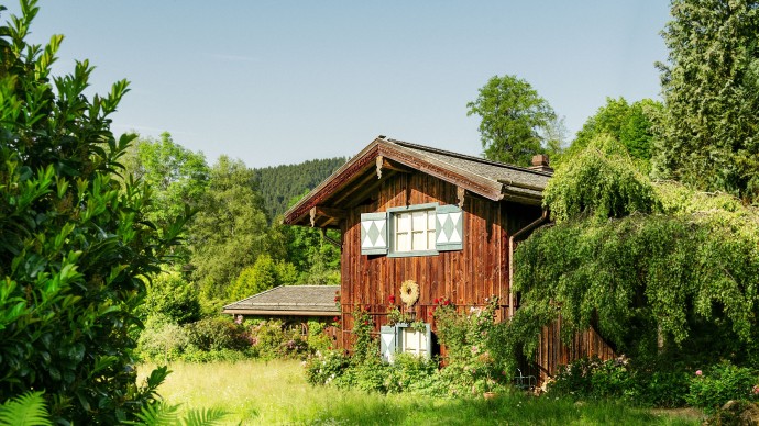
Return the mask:
M 509 238 L 546 217 L 540 204 L 550 176 L 546 167 L 495 164 L 384 137 L 364 148 L 285 215 L 286 224 L 333 227 L 342 233 L 339 345 L 352 346 L 356 306 L 375 318 L 378 333 L 388 312 L 403 309 L 399 289 L 406 280 L 419 287 L 419 300 L 413 306 L 416 321 L 431 323 L 438 298 L 470 309 L 484 306 L 485 299 L 493 295 L 499 300 L 497 316 L 506 321 L 512 307 Z M 461 249 L 405 257 L 362 254 L 362 214 L 429 204 L 461 209 Z M 391 295 L 395 304 L 388 302 Z M 614 356 L 593 330 L 563 345 L 560 327 L 559 322 L 543 329 L 535 362 L 529 366 L 534 375 L 553 375 L 559 365 L 583 356 Z

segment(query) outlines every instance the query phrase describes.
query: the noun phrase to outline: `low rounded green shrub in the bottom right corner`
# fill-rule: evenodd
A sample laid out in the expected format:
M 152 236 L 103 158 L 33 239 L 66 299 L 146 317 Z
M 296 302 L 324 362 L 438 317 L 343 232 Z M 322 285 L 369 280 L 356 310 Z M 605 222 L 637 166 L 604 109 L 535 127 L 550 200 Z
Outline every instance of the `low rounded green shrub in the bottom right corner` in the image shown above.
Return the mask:
M 724 361 L 693 373 L 685 401 L 707 412 L 713 412 L 730 400 L 756 401 L 757 382 L 756 370 Z

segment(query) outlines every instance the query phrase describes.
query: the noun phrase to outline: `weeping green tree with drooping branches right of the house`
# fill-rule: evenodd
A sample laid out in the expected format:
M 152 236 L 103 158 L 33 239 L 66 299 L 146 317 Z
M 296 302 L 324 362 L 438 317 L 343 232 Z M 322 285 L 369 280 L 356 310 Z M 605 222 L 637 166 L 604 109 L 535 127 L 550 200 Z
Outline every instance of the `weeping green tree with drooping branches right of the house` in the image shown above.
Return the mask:
M 631 356 L 757 361 L 757 209 L 652 183 L 608 135 L 557 169 L 546 203 L 557 223 L 515 254 L 521 306 L 510 338 L 522 349 L 561 314 L 564 337 L 595 326 Z M 693 344 L 702 334 L 710 348 Z

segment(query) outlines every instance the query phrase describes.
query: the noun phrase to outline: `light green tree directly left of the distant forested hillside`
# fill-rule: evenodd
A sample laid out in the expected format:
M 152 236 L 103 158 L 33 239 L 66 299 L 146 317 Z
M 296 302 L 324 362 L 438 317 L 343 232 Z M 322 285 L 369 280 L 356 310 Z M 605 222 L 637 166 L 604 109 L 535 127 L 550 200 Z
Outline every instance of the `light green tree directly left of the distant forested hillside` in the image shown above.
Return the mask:
M 273 240 L 254 173 L 226 156 L 211 167 L 208 190 L 190 227 L 194 279 L 209 300 L 228 300 L 243 268 L 264 253 L 282 258 Z

